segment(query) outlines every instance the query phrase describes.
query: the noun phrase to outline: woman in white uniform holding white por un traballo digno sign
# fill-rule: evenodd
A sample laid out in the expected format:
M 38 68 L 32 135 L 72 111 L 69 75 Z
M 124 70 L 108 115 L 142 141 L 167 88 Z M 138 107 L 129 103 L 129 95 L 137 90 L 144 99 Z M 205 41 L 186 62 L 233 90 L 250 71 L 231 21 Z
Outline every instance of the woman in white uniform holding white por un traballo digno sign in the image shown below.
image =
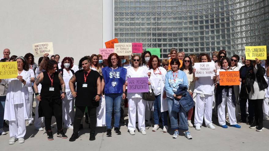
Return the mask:
M 208 54 L 202 53 L 199 55 L 198 60 L 200 63 L 211 62 Z M 214 101 L 214 79 L 216 77 L 195 77 L 196 69 L 193 69 L 193 78 L 195 79 L 196 93 L 193 99 L 196 100 L 194 112 L 194 126 L 196 130 L 201 130 L 203 119 L 205 119 L 205 126 L 210 129 L 215 129 L 212 124 L 212 106 Z

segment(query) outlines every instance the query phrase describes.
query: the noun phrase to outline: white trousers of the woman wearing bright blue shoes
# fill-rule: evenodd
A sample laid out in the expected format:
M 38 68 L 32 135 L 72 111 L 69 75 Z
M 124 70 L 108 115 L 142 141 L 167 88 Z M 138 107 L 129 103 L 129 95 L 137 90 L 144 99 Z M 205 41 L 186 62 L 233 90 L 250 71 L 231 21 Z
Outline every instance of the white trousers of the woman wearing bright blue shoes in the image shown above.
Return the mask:
M 225 104 L 227 102 L 227 109 L 228 109 L 228 115 L 229 115 L 229 121 L 230 125 L 237 124 L 236 123 L 236 117 L 235 117 L 235 105 L 232 102 L 232 95 L 226 96 L 226 94 L 222 95 L 222 102 L 218 106 L 218 120 L 219 125 L 226 125 L 225 121 Z

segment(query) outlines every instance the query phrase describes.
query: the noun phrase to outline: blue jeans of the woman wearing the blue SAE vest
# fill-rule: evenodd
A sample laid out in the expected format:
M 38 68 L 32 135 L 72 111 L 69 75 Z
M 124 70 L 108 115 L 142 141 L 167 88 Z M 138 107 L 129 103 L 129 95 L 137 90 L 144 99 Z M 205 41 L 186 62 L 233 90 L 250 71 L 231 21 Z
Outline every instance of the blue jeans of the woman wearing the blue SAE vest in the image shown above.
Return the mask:
M 120 126 L 120 103 L 122 100 L 122 93 L 105 94 L 105 124 L 106 129 L 112 129 L 111 117 L 112 108 L 114 104 L 114 128 Z

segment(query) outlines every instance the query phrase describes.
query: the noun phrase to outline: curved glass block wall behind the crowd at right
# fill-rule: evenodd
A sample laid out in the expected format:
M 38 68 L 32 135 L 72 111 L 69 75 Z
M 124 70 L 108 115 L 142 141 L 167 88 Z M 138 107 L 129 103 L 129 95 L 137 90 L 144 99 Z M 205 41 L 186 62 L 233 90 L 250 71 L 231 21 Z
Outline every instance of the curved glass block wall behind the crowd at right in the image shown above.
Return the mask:
M 114 0 L 114 37 L 188 54 L 269 46 L 269 0 Z M 268 51 L 267 51 L 268 53 Z

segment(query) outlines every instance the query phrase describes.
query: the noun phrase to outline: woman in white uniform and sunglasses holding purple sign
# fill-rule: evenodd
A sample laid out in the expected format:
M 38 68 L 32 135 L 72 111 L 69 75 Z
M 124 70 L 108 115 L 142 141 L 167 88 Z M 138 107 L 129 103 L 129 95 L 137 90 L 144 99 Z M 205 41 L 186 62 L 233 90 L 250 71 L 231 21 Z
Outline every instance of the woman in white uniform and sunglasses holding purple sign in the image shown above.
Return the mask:
M 132 56 L 132 67 L 127 69 L 127 79 L 130 77 L 148 77 L 147 70 L 141 67 L 142 59 L 138 55 Z M 126 82 L 128 85 L 128 83 Z M 149 83 L 150 84 L 150 83 Z M 142 135 L 146 135 L 145 131 L 145 109 L 146 101 L 142 99 L 143 93 L 129 93 L 128 99 L 128 130 L 131 135 L 135 135 L 136 110 L 138 111 L 138 129 Z

